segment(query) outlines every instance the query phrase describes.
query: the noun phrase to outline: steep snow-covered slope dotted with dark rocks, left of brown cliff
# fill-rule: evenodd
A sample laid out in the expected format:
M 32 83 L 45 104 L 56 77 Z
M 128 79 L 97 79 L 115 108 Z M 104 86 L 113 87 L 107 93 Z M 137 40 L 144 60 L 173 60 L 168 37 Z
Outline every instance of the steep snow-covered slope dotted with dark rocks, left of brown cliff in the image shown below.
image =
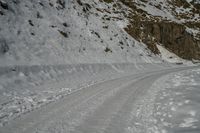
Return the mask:
M 120 11 L 99 0 L 0 3 L 1 66 L 159 61 L 124 31 L 122 3 Z

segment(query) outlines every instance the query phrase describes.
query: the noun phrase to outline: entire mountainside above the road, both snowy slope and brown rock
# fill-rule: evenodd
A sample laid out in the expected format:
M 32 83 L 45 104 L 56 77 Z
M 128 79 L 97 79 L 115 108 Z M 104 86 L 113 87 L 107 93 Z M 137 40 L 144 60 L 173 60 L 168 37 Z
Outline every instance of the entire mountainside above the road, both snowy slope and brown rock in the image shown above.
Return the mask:
M 199 60 L 199 3 L 0 0 L 0 64 L 161 62 L 157 45 Z

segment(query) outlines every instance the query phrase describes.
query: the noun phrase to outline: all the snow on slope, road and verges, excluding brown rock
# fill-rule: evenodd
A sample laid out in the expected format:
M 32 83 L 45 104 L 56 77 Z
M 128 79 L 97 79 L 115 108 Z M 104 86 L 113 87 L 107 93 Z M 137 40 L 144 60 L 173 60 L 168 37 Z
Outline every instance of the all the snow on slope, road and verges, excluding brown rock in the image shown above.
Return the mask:
M 117 12 L 99 0 L 0 2 L 8 6 L 0 8 L 0 132 L 10 123 L 8 130 L 18 133 L 200 131 L 200 70 L 165 76 L 177 65 L 164 60 L 188 62 L 159 46 L 161 59 L 128 35 L 128 7 L 120 4 Z M 182 22 L 166 3 L 155 9 L 158 2 L 141 8 Z

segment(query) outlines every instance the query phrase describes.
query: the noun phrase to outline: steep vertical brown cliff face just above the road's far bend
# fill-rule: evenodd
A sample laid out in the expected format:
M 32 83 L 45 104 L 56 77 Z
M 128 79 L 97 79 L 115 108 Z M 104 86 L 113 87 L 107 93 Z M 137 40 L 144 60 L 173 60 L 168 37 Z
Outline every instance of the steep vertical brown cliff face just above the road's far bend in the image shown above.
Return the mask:
M 181 58 L 200 59 L 200 40 L 188 33 L 184 25 L 173 22 L 147 23 L 145 32 Z

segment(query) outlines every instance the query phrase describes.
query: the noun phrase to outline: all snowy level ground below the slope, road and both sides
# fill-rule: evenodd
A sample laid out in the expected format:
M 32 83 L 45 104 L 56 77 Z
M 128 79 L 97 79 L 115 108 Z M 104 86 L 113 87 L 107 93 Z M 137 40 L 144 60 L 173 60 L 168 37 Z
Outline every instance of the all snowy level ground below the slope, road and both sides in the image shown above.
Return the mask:
M 2 79 L 10 82 L 2 82 L 0 131 L 199 132 L 200 69 L 170 66 L 82 64 L 16 67 L 14 72 L 5 68 Z

